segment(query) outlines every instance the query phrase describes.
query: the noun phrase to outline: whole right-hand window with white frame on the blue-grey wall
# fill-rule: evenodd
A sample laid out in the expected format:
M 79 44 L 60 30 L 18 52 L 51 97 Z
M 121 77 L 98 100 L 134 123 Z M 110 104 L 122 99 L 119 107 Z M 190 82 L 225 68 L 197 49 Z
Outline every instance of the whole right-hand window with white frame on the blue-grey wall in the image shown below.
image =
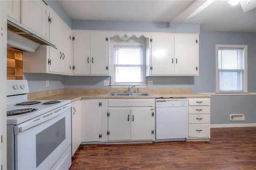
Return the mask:
M 247 92 L 247 45 L 216 45 L 217 92 Z

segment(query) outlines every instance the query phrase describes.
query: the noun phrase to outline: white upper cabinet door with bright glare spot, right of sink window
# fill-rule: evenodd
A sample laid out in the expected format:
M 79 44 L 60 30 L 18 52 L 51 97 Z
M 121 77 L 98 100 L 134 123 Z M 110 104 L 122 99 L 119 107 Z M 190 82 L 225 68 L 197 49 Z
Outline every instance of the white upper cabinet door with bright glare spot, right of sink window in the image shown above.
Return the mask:
M 156 34 L 151 36 L 151 75 L 174 74 L 174 36 Z

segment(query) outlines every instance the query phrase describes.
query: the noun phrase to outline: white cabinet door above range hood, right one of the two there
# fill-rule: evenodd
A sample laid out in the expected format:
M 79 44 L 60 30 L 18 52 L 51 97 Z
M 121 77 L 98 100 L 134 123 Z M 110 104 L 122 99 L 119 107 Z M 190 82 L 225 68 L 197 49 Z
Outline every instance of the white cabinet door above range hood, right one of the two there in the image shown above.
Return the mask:
M 49 39 L 49 12 L 42 0 L 22 0 L 21 24 Z

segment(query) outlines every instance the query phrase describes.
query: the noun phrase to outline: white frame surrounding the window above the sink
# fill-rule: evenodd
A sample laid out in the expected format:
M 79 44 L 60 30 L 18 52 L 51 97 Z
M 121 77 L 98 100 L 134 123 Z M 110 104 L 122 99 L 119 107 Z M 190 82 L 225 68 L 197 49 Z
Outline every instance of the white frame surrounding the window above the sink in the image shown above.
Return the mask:
M 139 43 L 139 42 L 114 42 L 111 44 L 110 50 L 110 72 L 111 72 L 111 88 L 128 88 L 128 86 L 135 85 L 136 88 L 146 88 L 146 43 Z M 122 84 L 114 84 L 114 46 L 142 46 L 142 57 L 143 57 L 143 83 L 122 83 Z

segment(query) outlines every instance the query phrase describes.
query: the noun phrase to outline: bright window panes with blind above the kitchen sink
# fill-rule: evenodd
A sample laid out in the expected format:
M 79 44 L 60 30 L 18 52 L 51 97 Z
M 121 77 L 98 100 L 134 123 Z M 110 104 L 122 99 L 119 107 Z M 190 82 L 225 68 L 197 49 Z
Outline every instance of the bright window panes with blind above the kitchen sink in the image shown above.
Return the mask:
M 115 85 L 143 84 L 142 46 L 114 46 Z

